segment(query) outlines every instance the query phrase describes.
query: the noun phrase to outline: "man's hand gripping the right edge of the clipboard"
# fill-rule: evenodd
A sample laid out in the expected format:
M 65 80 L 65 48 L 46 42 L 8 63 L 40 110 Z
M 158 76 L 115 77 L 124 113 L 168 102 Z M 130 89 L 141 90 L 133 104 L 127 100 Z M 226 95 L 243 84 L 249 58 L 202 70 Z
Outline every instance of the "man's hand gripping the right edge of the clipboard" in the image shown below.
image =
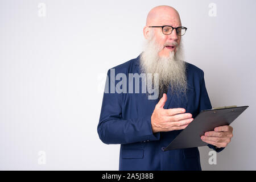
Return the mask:
M 205 132 L 201 136 L 201 140 L 206 143 L 212 144 L 218 148 L 226 147 L 233 137 L 233 127 L 232 126 L 220 126 L 214 128 L 214 131 Z

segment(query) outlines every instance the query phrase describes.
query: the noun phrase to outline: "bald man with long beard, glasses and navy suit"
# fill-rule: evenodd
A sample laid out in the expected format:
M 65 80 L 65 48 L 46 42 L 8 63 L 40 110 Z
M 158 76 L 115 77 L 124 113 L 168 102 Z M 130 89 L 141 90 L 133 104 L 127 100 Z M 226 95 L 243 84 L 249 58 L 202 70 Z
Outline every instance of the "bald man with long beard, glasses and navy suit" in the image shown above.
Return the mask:
M 108 71 L 97 129 L 102 142 L 121 144 L 119 170 L 201 170 L 197 147 L 164 151 L 201 110 L 212 109 L 204 72 L 183 61 L 186 30 L 173 7 L 154 7 L 143 28 L 144 51 Z M 220 152 L 232 137 L 232 127 L 221 126 L 201 139 Z

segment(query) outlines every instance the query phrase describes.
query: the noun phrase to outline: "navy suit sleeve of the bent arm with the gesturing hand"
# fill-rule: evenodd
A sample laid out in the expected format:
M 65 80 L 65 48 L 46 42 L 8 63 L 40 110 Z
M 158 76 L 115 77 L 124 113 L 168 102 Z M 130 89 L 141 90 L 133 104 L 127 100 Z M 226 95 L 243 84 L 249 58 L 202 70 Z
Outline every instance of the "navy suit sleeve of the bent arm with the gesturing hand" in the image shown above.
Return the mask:
M 108 81 L 110 80 L 110 81 Z M 102 142 L 106 144 L 127 144 L 145 140 L 159 140 L 160 133 L 152 133 L 151 115 L 144 118 L 122 118 L 122 93 L 106 93 L 106 86 L 113 84 L 110 71 L 105 85 L 100 121 L 97 131 Z

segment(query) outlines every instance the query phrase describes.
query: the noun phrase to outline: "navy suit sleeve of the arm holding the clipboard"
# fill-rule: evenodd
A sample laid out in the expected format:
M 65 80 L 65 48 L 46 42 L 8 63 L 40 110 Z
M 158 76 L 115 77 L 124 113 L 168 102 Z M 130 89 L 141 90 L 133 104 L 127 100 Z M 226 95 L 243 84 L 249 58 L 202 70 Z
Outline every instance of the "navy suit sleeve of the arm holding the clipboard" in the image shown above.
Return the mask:
M 210 104 L 210 99 L 207 93 L 207 89 L 205 87 L 204 81 L 204 72 L 202 71 L 201 81 L 200 81 L 200 104 L 199 104 L 199 113 L 201 110 L 212 109 L 212 105 Z M 225 147 L 217 148 L 212 144 L 208 144 L 209 148 L 212 148 L 216 152 L 222 151 Z

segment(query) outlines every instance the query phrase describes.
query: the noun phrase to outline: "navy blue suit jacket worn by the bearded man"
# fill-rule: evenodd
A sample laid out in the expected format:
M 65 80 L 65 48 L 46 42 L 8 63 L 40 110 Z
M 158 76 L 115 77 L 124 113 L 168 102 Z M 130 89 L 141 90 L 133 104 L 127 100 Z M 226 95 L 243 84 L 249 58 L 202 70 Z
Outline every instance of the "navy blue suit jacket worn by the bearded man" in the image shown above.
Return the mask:
M 193 118 L 204 109 L 212 109 L 205 88 L 204 72 L 193 64 L 187 65 L 187 99 L 167 92 L 164 109 L 183 107 Z M 141 73 L 139 56 L 114 67 L 115 75 L 124 73 Z M 117 84 L 118 80 L 110 78 L 106 82 Z M 128 86 L 128 85 L 127 85 Z M 128 88 L 127 88 L 128 90 Z M 106 144 L 121 144 L 119 170 L 201 170 L 199 150 L 185 148 L 163 151 L 163 148 L 180 133 L 181 130 L 152 133 L 151 114 L 159 99 L 148 100 L 145 93 L 104 93 L 98 135 Z M 223 148 L 216 149 L 217 152 Z

